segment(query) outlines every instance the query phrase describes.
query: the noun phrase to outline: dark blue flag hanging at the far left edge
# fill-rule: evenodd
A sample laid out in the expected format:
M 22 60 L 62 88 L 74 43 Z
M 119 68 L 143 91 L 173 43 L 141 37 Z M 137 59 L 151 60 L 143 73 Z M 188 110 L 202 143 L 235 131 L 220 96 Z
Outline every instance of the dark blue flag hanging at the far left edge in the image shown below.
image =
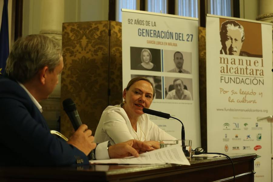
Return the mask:
M 8 54 L 8 0 L 4 0 L 2 23 L 0 29 L 0 74 L 4 72 Z

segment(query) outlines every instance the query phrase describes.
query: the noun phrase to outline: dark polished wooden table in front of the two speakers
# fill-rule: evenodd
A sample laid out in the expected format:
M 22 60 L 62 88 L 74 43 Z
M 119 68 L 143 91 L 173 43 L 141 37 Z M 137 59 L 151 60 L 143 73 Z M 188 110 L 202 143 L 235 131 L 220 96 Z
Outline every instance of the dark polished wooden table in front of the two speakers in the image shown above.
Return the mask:
M 235 167 L 236 182 L 254 181 L 255 153 L 227 153 Z M 88 165 L 72 167 L 0 167 L 0 181 L 233 181 L 226 157 L 192 157 L 190 166 Z

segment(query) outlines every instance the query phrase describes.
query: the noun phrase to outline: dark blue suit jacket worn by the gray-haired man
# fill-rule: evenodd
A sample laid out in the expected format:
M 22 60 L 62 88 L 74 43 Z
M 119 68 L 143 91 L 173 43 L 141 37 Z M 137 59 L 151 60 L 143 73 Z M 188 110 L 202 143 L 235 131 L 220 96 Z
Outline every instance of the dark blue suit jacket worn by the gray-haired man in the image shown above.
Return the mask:
M 0 75 L 0 165 L 89 164 L 86 155 L 53 136 L 25 90 Z

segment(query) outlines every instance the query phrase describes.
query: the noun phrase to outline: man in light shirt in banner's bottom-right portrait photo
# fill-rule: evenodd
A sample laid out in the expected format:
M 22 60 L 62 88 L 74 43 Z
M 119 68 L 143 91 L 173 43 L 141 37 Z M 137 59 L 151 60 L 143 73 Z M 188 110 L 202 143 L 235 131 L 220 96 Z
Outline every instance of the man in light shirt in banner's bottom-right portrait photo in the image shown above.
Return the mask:
M 170 91 L 166 99 L 192 100 L 191 93 L 184 89 L 184 83 L 180 78 L 174 79 L 174 90 Z

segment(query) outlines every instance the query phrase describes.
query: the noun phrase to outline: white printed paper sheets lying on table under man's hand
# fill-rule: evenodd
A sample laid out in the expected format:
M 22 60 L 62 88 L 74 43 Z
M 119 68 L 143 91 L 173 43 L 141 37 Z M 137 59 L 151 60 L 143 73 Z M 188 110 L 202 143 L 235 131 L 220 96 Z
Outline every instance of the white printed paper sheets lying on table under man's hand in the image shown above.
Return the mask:
M 90 160 L 91 164 L 183 164 L 190 165 L 179 144 L 150 152 L 142 153 L 139 157 L 125 157 L 109 160 Z

